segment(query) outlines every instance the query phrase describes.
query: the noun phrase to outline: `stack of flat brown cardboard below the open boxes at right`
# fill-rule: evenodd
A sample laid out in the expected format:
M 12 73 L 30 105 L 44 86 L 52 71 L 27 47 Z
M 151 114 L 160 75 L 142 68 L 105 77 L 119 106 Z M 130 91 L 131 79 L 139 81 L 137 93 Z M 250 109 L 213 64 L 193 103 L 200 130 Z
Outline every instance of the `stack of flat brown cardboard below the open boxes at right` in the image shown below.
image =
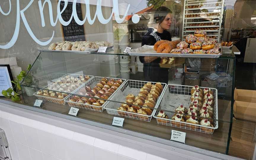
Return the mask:
M 235 142 L 253 146 L 256 141 L 256 123 L 233 118 L 231 138 Z

